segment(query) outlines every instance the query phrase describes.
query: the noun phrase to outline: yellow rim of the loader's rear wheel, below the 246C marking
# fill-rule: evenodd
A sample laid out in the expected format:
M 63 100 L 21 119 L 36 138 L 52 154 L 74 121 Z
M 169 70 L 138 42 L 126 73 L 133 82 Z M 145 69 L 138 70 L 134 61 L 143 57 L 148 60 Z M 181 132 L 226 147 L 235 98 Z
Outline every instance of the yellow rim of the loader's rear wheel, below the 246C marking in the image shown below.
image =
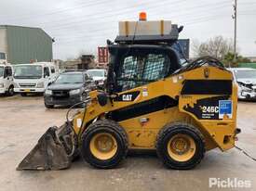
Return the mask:
M 187 134 L 175 134 L 168 141 L 168 155 L 177 161 L 187 161 L 195 155 L 195 141 Z

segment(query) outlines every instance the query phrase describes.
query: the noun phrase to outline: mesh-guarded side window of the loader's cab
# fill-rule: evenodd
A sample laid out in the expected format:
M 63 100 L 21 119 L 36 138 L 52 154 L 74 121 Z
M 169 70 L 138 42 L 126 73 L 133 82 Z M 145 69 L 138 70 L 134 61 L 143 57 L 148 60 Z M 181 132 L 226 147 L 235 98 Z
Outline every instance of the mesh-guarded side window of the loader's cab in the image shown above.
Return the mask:
M 118 91 L 152 83 L 167 76 L 170 59 L 166 54 L 130 55 L 124 57 L 117 74 Z

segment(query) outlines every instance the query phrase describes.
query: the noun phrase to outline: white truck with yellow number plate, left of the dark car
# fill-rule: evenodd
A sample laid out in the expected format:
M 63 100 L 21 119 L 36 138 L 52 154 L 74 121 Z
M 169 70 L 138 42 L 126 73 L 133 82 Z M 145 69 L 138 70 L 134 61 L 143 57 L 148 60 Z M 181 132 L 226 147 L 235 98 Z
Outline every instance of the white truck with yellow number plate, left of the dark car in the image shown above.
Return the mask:
M 14 92 L 21 96 L 44 93 L 47 85 L 57 78 L 59 72 L 52 62 L 34 62 L 14 67 Z

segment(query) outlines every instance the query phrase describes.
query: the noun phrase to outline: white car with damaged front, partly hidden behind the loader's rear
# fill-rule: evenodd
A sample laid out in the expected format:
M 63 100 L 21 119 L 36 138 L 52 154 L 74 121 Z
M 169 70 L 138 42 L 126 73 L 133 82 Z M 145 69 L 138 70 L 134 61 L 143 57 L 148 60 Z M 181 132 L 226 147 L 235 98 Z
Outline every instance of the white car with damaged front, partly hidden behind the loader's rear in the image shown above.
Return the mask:
M 238 99 L 256 100 L 256 70 L 248 68 L 230 69 L 238 85 Z

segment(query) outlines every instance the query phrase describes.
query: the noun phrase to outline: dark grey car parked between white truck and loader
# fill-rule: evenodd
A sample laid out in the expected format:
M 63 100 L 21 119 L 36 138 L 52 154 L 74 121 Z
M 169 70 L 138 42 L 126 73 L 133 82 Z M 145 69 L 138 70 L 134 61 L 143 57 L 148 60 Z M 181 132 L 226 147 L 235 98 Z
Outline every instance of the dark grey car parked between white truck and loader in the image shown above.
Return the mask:
M 72 106 L 88 96 L 88 91 L 95 89 L 95 83 L 88 73 L 71 71 L 61 73 L 57 80 L 51 83 L 45 92 L 46 108 L 55 105 Z

